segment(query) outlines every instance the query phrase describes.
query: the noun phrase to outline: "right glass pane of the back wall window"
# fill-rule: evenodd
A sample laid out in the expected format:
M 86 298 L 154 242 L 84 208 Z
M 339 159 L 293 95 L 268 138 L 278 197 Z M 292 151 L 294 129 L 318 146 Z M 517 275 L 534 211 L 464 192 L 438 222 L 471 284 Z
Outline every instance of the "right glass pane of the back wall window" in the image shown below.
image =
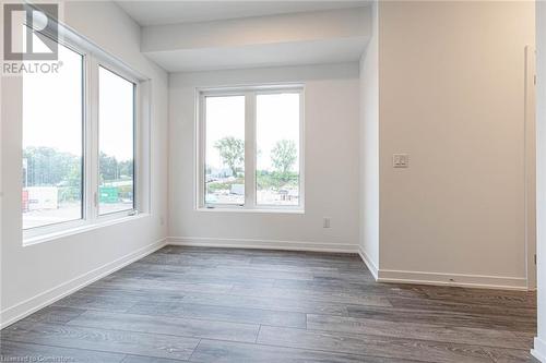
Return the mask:
M 299 94 L 258 95 L 257 204 L 299 205 Z

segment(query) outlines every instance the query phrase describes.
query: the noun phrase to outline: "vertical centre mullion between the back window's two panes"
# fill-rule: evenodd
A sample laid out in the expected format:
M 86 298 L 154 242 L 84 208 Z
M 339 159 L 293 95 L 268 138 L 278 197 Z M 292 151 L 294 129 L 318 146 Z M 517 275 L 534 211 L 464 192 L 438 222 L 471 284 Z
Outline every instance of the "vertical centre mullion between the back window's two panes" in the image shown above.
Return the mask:
M 256 206 L 256 93 L 245 95 L 245 208 Z

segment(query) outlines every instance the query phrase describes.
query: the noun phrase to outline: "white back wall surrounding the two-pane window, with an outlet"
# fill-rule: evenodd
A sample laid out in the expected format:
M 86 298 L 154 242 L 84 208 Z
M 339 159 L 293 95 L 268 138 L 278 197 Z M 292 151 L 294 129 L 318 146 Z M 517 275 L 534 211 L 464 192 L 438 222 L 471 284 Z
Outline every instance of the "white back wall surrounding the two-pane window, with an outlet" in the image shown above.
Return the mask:
M 285 82 L 306 85 L 305 215 L 195 210 L 195 87 Z M 356 251 L 358 101 L 357 63 L 171 74 L 169 240 Z M 332 228 L 322 228 L 323 217 Z

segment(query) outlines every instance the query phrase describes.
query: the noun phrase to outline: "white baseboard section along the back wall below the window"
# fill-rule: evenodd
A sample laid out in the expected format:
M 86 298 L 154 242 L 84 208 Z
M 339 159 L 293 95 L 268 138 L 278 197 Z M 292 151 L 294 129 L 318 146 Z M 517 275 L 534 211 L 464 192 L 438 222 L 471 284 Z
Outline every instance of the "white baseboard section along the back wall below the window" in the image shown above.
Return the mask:
M 251 240 L 251 239 L 219 239 L 203 237 L 168 237 L 167 244 L 203 246 L 203 247 L 230 247 L 230 249 L 259 249 L 259 250 L 286 250 L 311 252 L 357 253 L 358 245 L 348 243 L 316 243 L 302 241 Z

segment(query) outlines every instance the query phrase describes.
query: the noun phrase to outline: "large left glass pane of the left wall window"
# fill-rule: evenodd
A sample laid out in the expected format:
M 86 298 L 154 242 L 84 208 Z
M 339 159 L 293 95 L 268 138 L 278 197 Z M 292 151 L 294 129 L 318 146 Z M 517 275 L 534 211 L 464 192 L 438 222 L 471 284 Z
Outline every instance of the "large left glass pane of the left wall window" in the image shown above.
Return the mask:
M 23 229 L 82 218 L 83 57 L 23 75 Z

